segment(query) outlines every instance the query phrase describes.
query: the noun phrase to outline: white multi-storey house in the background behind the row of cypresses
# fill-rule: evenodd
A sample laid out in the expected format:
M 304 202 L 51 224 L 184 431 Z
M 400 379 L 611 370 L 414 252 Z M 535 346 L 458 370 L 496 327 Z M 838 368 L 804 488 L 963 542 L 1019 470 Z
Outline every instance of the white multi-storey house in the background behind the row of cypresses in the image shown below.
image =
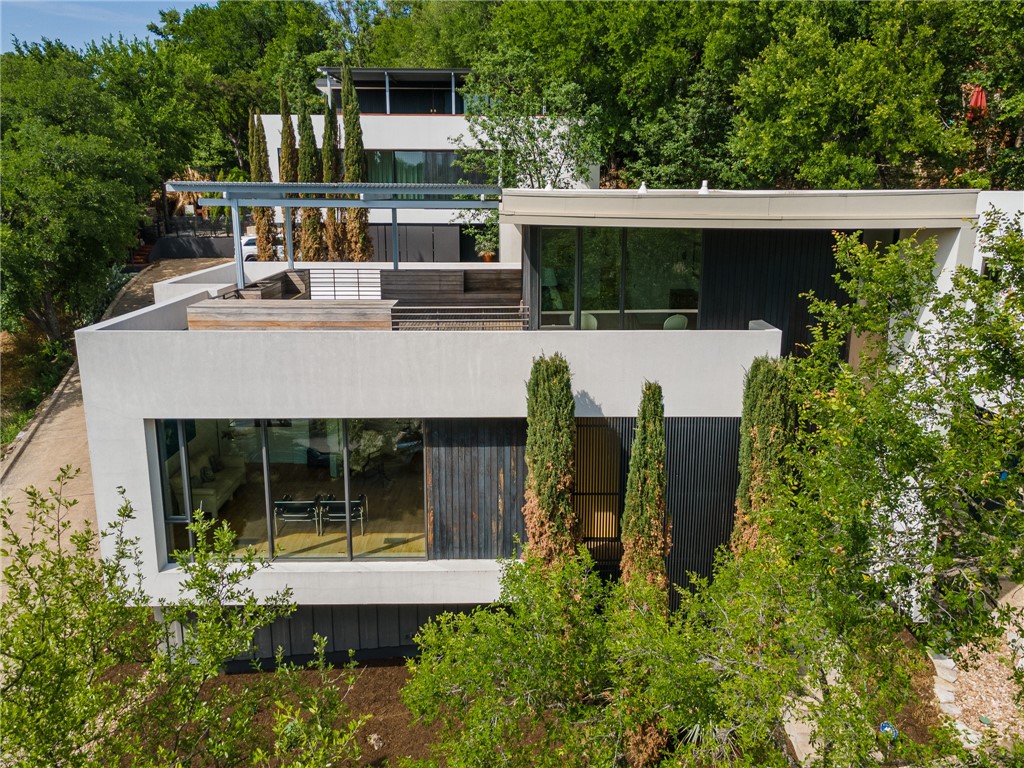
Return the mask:
M 345 142 L 341 120 L 341 70 L 319 69 L 316 88 L 330 99 L 338 116 L 338 136 Z M 483 179 L 464 173 L 456 163 L 460 136 L 468 136 L 461 90 L 468 70 L 351 70 L 352 83 L 359 101 L 359 124 L 367 153 L 368 180 L 375 183 L 456 184 Z M 298 117 L 291 117 L 298 134 Z M 313 133 L 317 145 L 324 136 L 324 115 L 313 114 Z M 270 171 L 280 181 L 282 117 L 264 115 L 263 128 L 270 155 Z M 469 139 L 467 138 L 467 141 Z M 590 185 L 598 185 L 598 169 L 592 171 Z M 478 261 L 474 241 L 468 233 L 471 222 L 458 209 L 398 212 L 397 227 L 392 229 L 388 211 L 371 211 L 370 237 L 375 259 L 389 261 L 392 238 L 397 232 L 401 261 L 441 262 Z M 503 232 L 501 251 L 512 251 Z

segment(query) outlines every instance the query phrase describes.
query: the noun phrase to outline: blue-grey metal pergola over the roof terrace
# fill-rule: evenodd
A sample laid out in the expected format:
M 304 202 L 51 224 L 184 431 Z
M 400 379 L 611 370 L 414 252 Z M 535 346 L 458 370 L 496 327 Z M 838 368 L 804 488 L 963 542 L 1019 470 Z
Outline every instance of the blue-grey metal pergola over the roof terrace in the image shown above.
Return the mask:
M 243 208 L 375 208 L 391 211 L 391 261 L 398 268 L 398 209 L 496 209 L 502 188 L 486 184 L 307 184 L 271 181 L 168 181 L 168 191 L 220 197 L 200 198 L 201 206 L 231 210 L 234 267 L 239 288 L 245 288 L 242 259 Z M 306 197 L 299 197 L 300 195 Z M 330 197 L 328 197 L 330 196 Z M 429 198 L 428 198 L 429 196 Z M 412 199 L 411 199 L 412 198 Z M 419 199 L 417 199 L 419 198 Z M 285 250 L 288 267 L 295 266 L 292 217 L 285 216 Z

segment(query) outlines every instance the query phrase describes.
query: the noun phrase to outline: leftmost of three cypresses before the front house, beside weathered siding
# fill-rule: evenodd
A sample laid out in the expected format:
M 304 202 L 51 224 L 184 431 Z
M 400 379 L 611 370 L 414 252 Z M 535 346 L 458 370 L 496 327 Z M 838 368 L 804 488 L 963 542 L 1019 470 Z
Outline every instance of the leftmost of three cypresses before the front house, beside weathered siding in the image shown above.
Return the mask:
M 526 384 L 526 504 L 530 551 L 551 565 L 573 554 L 572 510 L 575 401 L 568 362 L 560 354 L 535 358 Z

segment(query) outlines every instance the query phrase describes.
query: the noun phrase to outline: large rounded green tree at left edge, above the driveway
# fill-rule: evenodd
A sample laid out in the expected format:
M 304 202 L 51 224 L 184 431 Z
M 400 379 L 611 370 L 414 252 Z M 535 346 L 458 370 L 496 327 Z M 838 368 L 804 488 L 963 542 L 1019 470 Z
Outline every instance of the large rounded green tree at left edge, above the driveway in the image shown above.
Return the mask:
M 80 53 L 18 46 L 2 65 L 3 325 L 63 339 L 101 311 L 156 168 Z

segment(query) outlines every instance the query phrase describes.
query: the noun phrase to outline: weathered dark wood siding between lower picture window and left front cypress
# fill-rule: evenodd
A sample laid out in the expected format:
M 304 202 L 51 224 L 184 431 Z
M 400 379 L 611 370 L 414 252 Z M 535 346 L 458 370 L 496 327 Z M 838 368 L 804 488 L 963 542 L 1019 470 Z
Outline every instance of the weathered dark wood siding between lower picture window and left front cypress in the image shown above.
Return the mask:
M 526 538 L 525 420 L 428 419 L 423 443 L 427 556 L 512 556 L 515 538 Z

